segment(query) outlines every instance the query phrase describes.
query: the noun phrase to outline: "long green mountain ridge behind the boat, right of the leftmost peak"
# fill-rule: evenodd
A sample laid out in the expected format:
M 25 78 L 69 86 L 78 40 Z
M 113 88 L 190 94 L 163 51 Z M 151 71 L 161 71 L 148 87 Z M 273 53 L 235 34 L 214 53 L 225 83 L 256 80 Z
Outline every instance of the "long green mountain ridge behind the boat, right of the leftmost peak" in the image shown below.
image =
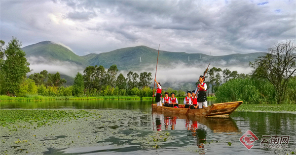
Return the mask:
M 109 68 L 112 64 L 116 64 L 119 70 L 142 69 L 147 66 L 155 66 L 157 61 L 157 50 L 146 46 L 137 46 L 123 48 L 111 52 L 100 54 L 85 55 L 88 57 L 90 65 L 103 65 Z M 167 52 L 159 51 L 159 65 L 178 65 L 178 64 L 196 64 L 211 63 L 212 66 L 247 66 L 250 61 L 264 54 L 263 52 L 248 54 L 230 54 L 223 56 L 210 56 L 200 53 L 185 52 Z M 91 58 L 92 57 L 92 58 Z M 141 62 L 140 62 L 141 57 Z M 189 60 L 188 60 L 189 57 Z M 90 59 L 89 59 L 90 58 Z

